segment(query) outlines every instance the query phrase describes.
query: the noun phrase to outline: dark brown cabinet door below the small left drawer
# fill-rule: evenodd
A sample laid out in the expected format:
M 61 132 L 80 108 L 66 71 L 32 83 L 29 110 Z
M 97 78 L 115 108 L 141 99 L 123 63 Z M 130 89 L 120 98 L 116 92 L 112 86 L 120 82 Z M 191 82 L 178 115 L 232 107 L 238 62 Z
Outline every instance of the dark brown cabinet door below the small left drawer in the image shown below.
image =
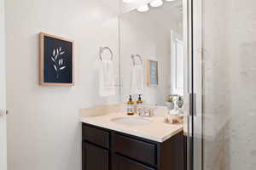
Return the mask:
M 108 170 L 108 150 L 83 143 L 83 170 Z

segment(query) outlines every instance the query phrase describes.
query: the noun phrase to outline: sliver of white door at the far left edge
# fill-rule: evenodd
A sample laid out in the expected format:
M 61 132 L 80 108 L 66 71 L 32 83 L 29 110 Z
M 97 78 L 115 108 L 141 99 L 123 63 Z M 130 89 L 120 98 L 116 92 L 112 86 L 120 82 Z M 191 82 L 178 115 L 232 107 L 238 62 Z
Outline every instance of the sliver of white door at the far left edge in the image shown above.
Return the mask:
M 7 170 L 4 0 L 0 0 L 0 169 Z

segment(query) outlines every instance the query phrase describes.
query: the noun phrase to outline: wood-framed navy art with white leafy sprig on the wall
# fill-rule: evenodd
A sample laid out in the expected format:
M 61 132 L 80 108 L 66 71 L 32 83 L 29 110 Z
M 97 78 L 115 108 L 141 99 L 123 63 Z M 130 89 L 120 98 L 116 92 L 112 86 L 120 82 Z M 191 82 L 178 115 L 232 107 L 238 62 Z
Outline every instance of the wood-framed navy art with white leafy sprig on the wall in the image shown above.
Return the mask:
M 40 85 L 74 85 L 74 42 L 40 33 Z

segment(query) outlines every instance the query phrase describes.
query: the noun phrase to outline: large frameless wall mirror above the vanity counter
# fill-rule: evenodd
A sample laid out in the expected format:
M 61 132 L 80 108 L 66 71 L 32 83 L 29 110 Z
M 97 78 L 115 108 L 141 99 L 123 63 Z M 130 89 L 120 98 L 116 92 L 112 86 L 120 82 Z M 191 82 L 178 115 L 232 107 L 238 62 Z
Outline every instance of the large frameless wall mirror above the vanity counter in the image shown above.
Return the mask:
M 145 105 L 167 105 L 183 96 L 182 0 L 121 0 L 119 33 L 122 102 L 143 94 Z

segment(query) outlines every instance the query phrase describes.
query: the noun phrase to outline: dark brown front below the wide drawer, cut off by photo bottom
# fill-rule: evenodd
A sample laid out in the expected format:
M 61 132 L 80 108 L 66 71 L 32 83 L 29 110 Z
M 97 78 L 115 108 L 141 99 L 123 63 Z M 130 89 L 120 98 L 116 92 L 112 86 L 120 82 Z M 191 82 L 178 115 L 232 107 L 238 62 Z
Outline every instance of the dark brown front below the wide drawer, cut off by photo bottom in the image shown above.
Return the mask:
M 151 167 L 144 166 L 137 161 L 132 161 L 117 154 L 113 154 L 112 167 L 112 170 L 154 170 Z

